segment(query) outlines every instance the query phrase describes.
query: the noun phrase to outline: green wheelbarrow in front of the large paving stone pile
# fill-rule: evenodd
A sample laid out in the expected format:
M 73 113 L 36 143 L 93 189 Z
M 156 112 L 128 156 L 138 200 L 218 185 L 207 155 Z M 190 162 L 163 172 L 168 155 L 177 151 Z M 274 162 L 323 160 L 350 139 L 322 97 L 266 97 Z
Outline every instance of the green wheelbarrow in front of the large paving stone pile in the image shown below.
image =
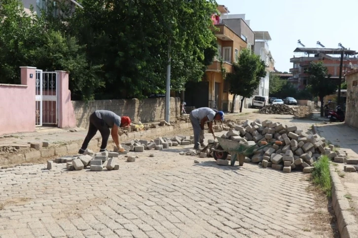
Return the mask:
M 241 144 L 236 141 L 230 141 L 221 137 L 216 137 L 218 141 L 218 146 L 215 149 L 211 149 L 213 151 L 213 157 L 215 160 L 227 158 L 228 154 L 231 154 L 231 166 L 235 165 L 235 161 L 239 160 L 239 165 L 244 165 L 244 160 L 246 156 L 252 155 L 256 150 L 264 149 L 265 147 L 271 146 L 273 144 L 282 145 L 281 141 L 273 141 L 267 143 L 265 141 L 258 142 L 253 146 Z M 259 146 L 260 145 L 260 146 Z M 256 148 L 256 146 L 259 146 Z

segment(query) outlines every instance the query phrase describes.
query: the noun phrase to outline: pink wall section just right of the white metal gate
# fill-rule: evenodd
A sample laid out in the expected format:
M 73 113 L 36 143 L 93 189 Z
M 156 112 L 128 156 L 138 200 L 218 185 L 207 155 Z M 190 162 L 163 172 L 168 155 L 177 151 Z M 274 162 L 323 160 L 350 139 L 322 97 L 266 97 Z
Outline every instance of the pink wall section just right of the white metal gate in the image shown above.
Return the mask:
M 71 102 L 71 91 L 69 89 L 69 73 L 66 71 L 56 71 L 59 73 L 59 127 L 75 127 L 76 119 L 74 116 L 73 105 Z

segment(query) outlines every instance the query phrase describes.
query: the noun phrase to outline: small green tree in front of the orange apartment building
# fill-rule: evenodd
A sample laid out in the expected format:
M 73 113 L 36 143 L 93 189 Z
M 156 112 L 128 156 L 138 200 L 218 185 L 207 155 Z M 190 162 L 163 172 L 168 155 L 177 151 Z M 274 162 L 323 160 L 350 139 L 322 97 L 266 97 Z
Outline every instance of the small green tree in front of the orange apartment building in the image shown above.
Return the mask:
M 249 49 L 241 52 L 238 62 L 234 62 L 233 67 L 234 72 L 226 76 L 230 84 L 230 93 L 234 94 L 231 113 L 234 112 L 236 96 L 243 97 L 240 106 L 240 112 L 242 112 L 245 97 L 251 97 L 259 86 L 261 78 L 266 76 L 264 61 L 259 56 L 251 54 Z

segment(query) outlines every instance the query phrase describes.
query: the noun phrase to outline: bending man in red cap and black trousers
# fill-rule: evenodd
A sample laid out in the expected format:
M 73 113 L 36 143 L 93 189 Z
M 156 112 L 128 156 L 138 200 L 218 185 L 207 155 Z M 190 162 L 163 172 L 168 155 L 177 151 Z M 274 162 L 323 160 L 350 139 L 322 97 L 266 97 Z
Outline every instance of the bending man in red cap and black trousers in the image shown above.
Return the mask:
M 109 134 L 112 136 L 113 142 L 117 146 L 118 150 L 123 152 L 123 147 L 119 144 L 118 128 L 128 127 L 131 125 L 131 119 L 129 117 L 119 117 L 117 114 L 106 111 L 97 110 L 91 114 L 89 118 L 89 128 L 86 138 L 82 144 L 78 153 L 83 154 L 88 147 L 88 143 L 96 135 L 97 131 L 100 131 L 102 136 L 102 145 L 100 152 L 106 151 Z M 111 128 L 111 130 L 109 130 Z

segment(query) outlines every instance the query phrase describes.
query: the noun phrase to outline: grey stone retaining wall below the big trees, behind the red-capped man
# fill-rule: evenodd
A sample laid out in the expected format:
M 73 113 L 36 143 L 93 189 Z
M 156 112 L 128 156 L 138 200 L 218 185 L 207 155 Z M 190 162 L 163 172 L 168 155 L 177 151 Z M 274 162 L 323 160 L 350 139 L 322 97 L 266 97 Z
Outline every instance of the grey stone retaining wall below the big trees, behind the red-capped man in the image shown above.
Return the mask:
M 118 99 L 95 100 L 89 103 L 72 101 L 76 126 L 88 127 L 89 116 L 96 110 L 109 110 L 119 116 L 128 116 L 133 121 L 159 121 L 165 116 L 165 98 L 146 98 L 143 100 Z M 170 117 L 176 119 L 180 115 L 180 98 L 170 98 Z

